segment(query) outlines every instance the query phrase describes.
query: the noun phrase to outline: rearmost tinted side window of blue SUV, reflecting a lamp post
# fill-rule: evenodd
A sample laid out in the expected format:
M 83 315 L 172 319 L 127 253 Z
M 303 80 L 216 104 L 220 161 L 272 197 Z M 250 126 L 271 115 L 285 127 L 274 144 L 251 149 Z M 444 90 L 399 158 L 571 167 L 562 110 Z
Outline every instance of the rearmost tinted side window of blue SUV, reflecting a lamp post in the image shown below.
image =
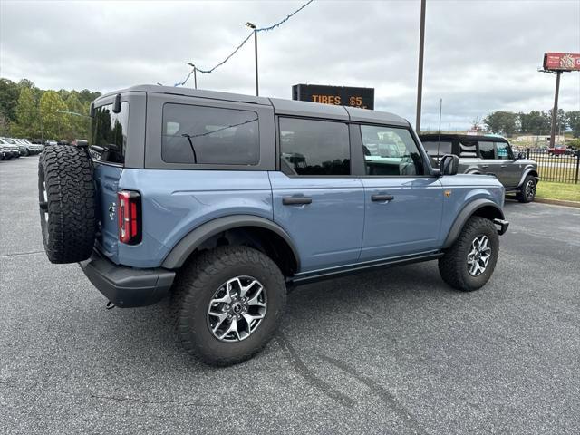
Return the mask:
M 168 163 L 256 165 L 259 160 L 257 113 L 165 104 L 161 158 Z

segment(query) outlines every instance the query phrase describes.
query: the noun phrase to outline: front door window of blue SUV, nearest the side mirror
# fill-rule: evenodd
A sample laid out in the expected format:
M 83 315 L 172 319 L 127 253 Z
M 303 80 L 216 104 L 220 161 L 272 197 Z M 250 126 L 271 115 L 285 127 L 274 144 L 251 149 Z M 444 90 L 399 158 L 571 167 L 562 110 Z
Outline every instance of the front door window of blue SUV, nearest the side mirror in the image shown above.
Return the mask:
M 361 126 L 362 150 L 367 175 L 423 175 L 417 144 L 407 129 Z

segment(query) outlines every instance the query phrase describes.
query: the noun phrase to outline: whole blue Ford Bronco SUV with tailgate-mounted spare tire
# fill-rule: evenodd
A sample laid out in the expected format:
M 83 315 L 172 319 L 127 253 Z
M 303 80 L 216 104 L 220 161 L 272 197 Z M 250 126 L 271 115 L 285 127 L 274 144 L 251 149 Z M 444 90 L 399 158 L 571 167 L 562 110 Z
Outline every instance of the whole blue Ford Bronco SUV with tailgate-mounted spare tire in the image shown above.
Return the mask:
M 295 285 L 438 260 L 471 291 L 496 266 L 501 183 L 456 175 L 457 156 L 432 168 L 394 114 L 143 85 L 91 117 L 88 143 L 39 161 L 46 254 L 116 306 L 169 296 L 203 362 L 262 349 Z

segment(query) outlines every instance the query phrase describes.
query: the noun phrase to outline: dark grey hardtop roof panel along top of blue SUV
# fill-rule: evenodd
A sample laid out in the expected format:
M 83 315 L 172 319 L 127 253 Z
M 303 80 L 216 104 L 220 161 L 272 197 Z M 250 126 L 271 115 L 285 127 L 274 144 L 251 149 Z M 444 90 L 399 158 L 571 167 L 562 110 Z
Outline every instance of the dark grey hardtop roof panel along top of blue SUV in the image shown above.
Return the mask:
M 370 111 L 348 106 L 336 106 L 333 104 L 321 104 L 318 102 L 298 102 L 295 100 L 285 100 L 281 98 L 256 97 L 255 95 L 244 95 L 240 93 L 206 91 L 202 89 L 192 89 L 174 86 L 160 86 L 155 84 L 140 84 L 120 91 L 107 92 L 97 98 L 98 102 L 102 98 L 111 97 L 118 93 L 127 92 L 154 92 L 180 95 L 186 97 L 207 98 L 209 100 L 222 100 L 228 102 L 249 102 L 274 107 L 276 114 L 305 116 L 314 118 L 332 118 L 344 121 L 358 121 L 367 123 L 387 123 L 391 125 L 401 125 L 408 127 L 409 121 L 394 113 L 387 111 Z

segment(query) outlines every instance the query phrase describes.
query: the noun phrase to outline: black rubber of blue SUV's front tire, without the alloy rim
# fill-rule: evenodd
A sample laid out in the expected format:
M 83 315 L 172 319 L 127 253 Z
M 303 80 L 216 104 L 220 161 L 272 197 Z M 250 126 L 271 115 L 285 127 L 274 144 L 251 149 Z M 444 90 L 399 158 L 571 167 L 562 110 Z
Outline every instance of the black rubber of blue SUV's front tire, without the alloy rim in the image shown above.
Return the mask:
M 473 235 L 481 231 L 481 228 L 488 228 L 489 233 L 495 235 L 495 237 L 491 237 L 491 242 L 497 247 L 497 254 L 493 255 L 492 251 L 492 257 L 489 259 L 486 270 L 486 273 L 489 271 L 489 276 L 493 275 L 499 254 L 499 237 L 495 225 L 487 218 L 480 218 L 478 216 L 469 218 L 455 243 L 439 259 L 439 272 L 443 281 L 451 287 L 464 292 L 472 292 L 485 285 L 485 282 L 482 285 L 469 284 L 465 279 L 466 275 L 464 270 L 466 269 L 467 250 L 471 246 Z

